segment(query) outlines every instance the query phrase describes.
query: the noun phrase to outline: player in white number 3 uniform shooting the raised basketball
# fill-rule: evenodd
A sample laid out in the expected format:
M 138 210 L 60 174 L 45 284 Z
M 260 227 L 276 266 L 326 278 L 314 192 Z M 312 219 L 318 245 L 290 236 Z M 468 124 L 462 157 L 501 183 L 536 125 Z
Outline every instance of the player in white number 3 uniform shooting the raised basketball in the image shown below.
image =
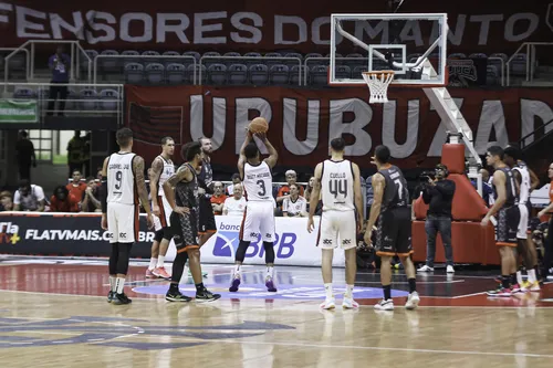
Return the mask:
M 255 125 L 255 122 L 257 120 L 253 119 L 252 125 Z M 259 148 L 255 141 L 253 141 L 252 132 L 249 129 L 242 147 L 240 148 L 240 158 L 238 159 L 238 171 L 242 179 L 244 196 L 248 202 L 242 225 L 240 227 L 240 244 L 234 255 L 236 266 L 232 282 L 229 287 L 230 292 L 238 292 L 246 251 L 252 241 L 258 241 L 258 234 L 260 234 L 263 240 L 263 249 L 265 252 L 265 286 L 269 292 L 276 292 L 273 282 L 274 204 L 272 198 L 273 180 L 271 169 L 276 165 L 279 155 L 269 139 L 267 139 L 267 130 L 263 133 L 255 133 L 254 135 L 265 145 L 269 150 L 269 157 L 264 160 L 260 159 Z

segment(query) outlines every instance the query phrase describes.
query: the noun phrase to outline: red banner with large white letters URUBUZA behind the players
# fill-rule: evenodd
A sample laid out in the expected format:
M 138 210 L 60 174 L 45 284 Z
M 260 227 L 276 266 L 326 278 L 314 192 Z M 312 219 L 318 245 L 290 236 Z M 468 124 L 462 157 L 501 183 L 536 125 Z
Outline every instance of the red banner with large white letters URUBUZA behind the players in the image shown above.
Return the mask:
M 481 155 L 490 141 L 505 146 L 553 119 L 547 90 L 451 88 L 450 93 Z M 246 126 L 263 116 L 280 166 L 314 167 L 327 157 L 328 141 L 341 135 L 348 144 L 346 155 L 362 168 L 371 168 L 369 157 L 379 144 L 390 148 L 401 168 L 435 165 L 447 134 L 422 91 L 390 88 L 388 98 L 388 104 L 369 105 L 366 87 L 127 86 L 127 125 L 136 134 L 135 150 L 146 161 L 159 154 L 165 136 L 174 137 L 178 146 L 206 136 L 213 143 L 213 162 L 234 167 Z M 526 143 L 533 139 L 530 136 Z

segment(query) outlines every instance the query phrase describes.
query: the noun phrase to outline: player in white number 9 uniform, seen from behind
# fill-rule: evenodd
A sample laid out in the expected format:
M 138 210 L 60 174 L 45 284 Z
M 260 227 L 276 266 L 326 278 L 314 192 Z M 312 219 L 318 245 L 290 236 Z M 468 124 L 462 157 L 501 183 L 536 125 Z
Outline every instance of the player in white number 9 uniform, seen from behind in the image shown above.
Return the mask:
M 138 239 L 139 204 L 147 213 L 148 228 L 153 228 L 148 192 L 144 181 L 144 159 L 133 154 L 133 132 L 121 128 L 116 133 L 119 151 L 104 160 L 102 168 L 102 229 L 107 230 L 109 255 L 109 293 L 107 302 L 129 304 L 124 293 L 131 248 Z

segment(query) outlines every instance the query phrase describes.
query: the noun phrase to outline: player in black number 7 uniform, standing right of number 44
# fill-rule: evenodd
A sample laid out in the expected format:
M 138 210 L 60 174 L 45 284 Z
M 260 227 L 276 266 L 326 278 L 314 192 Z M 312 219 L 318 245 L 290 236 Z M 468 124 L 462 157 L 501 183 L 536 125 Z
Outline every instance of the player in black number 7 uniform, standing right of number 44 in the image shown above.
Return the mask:
M 376 233 L 376 254 L 380 256 L 380 283 L 384 298 L 375 305 L 377 311 L 393 311 L 392 299 L 392 257 L 398 255 L 405 267 L 409 282 L 409 296 L 405 307 L 415 309 L 420 302 L 417 293 L 415 265 L 410 259 L 411 248 L 411 215 L 407 207 L 409 191 L 407 181 L 399 168 L 389 164 L 392 158 L 389 148 L 377 146 L 373 162 L 378 170 L 373 175 L 374 202 L 371 207 L 367 229 L 365 231 L 365 243 L 371 244 L 373 227 L 378 220 Z

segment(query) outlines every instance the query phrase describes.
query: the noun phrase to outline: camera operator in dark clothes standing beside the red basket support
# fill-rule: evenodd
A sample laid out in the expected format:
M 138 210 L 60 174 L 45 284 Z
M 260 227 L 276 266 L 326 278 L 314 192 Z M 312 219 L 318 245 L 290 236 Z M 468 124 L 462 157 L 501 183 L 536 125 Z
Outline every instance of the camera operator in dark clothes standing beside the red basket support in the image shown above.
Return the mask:
M 436 255 L 436 235 L 441 234 L 441 241 L 446 251 L 447 273 L 453 273 L 453 250 L 451 248 L 451 202 L 455 194 L 455 182 L 446 179 L 449 175 L 448 168 L 438 164 L 436 166 L 436 179 L 428 177 L 428 183 L 422 191 L 422 200 L 429 204 L 426 217 L 426 264 L 418 269 L 419 272 L 434 271 L 434 257 Z

